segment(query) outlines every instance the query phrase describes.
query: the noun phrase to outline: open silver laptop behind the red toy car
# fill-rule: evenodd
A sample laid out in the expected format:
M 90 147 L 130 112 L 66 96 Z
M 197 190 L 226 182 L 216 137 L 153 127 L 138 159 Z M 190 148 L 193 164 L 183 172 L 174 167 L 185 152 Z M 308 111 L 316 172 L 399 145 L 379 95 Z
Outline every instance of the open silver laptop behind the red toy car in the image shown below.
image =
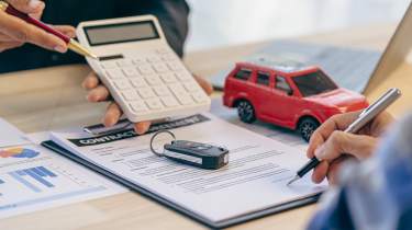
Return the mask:
M 245 60 L 270 59 L 276 62 L 320 66 L 339 87 L 363 93 L 379 84 L 403 62 L 412 47 L 411 35 L 412 3 L 385 51 L 277 39 Z M 223 89 L 224 80 L 231 70 L 232 67 L 211 78 L 215 89 Z

